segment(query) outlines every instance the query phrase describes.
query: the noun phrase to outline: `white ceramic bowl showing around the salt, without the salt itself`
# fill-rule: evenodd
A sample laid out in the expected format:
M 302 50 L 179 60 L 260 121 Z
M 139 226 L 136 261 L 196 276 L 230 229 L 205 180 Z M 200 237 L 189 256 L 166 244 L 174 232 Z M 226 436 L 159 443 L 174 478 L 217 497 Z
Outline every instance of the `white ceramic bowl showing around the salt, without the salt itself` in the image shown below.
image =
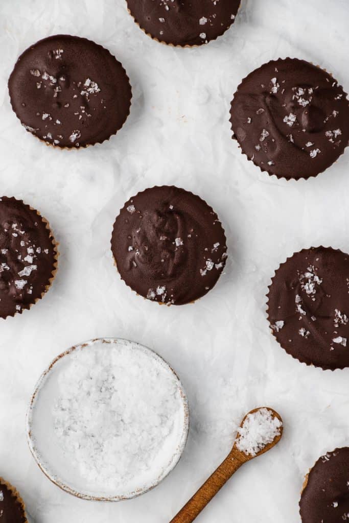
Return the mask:
M 141 351 L 142 355 L 152 360 L 152 365 L 157 366 L 161 372 L 170 373 L 171 379 L 175 384 L 175 389 L 179 398 L 179 422 L 176 420 L 178 430 L 176 430 L 175 440 L 171 441 L 171 457 L 168 456 L 161 467 L 156 472 L 156 479 L 149 483 L 141 483 L 137 488 L 122 492 L 110 491 L 105 485 L 88 484 L 88 481 L 81 475 L 78 468 L 71 465 L 65 457 L 64 450 L 59 445 L 57 436 L 53 428 L 53 404 L 59 397 L 58 377 L 60 372 L 76 358 L 78 351 L 88 350 L 89 347 L 97 347 L 100 350 L 123 347 L 125 350 Z M 134 354 L 134 353 L 133 353 Z M 27 413 L 27 439 L 29 448 L 40 469 L 48 478 L 64 491 L 83 499 L 92 499 L 94 501 L 121 501 L 130 499 L 140 494 L 148 492 L 159 484 L 164 477 L 169 474 L 182 456 L 189 429 L 189 408 L 187 396 L 184 392 L 181 381 L 168 363 L 154 351 L 140 344 L 129 342 L 125 339 L 116 338 L 98 338 L 89 342 L 76 345 L 66 350 L 63 354 L 55 358 L 51 365 L 46 369 L 36 385 L 35 391 L 31 397 Z

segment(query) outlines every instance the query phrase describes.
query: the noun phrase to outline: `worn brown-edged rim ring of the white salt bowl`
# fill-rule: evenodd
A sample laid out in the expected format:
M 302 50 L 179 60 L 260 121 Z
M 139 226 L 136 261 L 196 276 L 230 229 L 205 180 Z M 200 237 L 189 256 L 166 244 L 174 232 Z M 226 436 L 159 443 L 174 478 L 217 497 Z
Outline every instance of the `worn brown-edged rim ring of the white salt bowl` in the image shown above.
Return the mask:
M 160 365 L 162 365 L 163 367 L 170 370 L 176 379 L 177 388 L 179 391 L 179 395 L 181 396 L 183 409 L 184 409 L 183 433 L 179 440 L 178 447 L 170 461 L 170 465 L 168 465 L 168 467 L 166 467 L 160 473 L 157 480 L 154 483 L 152 483 L 151 485 L 145 485 L 142 488 L 139 488 L 137 490 L 134 490 L 132 492 L 129 492 L 129 493 L 123 494 L 123 495 L 119 495 L 119 494 L 110 495 L 110 496 L 99 495 L 99 494 L 93 495 L 93 494 L 91 494 L 91 492 L 90 493 L 80 492 L 80 491 L 72 488 L 71 486 L 64 483 L 64 481 L 62 481 L 59 477 L 57 477 L 55 474 L 53 474 L 50 471 L 49 463 L 43 463 L 42 457 L 40 456 L 40 453 L 36 450 L 36 446 L 34 443 L 34 436 L 33 436 L 33 430 L 32 430 L 32 427 L 33 427 L 32 416 L 33 416 L 33 412 L 35 411 L 36 400 L 37 400 L 38 394 L 44 388 L 44 384 L 46 383 L 47 378 L 50 375 L 55 364 L 57 362 L 61 361 L 61 359 L 64 358 L 65 356 L 71 355 L 75 350 L 82 350 L 86 347 L 91 347 L 97 343 L 109 344 L 109 345 L 114 344 L 116 346 L 118 346 L 118 345 L 120 346 L 120 344 L 121 344 L 123 346 L 126 345 L 130 348 L 137 348 L 139 350 L 142 350 L 143 353 L 149 355 L 151 358 L 154 358 L 157 362 L 160 363 Z M 181 459 L 182 454 L 184 452 L 184 448 L 186 446 L 186 442 L 188 439 L 188 433 L 189 433 L 189 403 L 188 403 L 188 398 L 187 398 L 186 392 L 184 390 L 182 381 L 179 379 L 177 373 L 173 370 L 171 365 L 162 356 L 160 356 L 155 350 L 150 349 L 149 347 L 142 345 L 138 342 L 132 342 L 131 340 L 128 340 L 125 338 L 112 338 L 112 337 L 92 338 L 92 339 L 87 340 L 86 342 L 71 346 L 69 349 L 66 349 L 63 353 L 61 353 L 57 357 L 55 357 L 51 361 L 49 366 L 41 373 L 41 376 L 35 385 L 34 392 L 32 393 L 32 395 L 30 397 L 30 402 L 29 402 L 27 414 L 26 414 L 27 442 L 28 442 L 30 452 L 31 452 L 33 458 L 35 459 L 36 463 L 38 464 L 40 470 L 48 477 L 48 479 L 53 484 L 60 487 L 63 491 L 65 491 L 69 494 L 72 494 L 75 497 L 78 497 L 81 499 L 86 499 L 89 501 L 119 502 L 119 501 L 123 501 L 125 499 L 133 499 L 135 497 L 138 497 L 142 494 L 145 494 L 145 493 L 151 491 L 153 488 L 155 488 L 157 485 L 159 485 L 159 483 L 161 483 L 165 479 L 165 477 L 167 477 L 168 474 L 170 474 L 170 472 L 172 472 L 173 469 L 176 467 L 178 461 Z

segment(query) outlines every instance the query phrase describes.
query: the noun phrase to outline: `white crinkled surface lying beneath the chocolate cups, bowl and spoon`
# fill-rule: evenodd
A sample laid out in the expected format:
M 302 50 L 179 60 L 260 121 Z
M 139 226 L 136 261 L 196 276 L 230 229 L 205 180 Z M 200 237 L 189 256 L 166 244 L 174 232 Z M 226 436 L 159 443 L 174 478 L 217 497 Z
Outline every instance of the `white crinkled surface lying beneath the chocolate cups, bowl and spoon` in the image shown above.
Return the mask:
M 283 416 L 282 441 L 246 464 L 198 521 L 298 523 L 305 473 L 320 454 L 349 444 L 349 370 L 324 372 L 293 360 L 269 334 L 265 315 L 267 286 L 287 256 L 319 244 L 349 251 L 349 152 L 317 178 L 277 180 L 240 154 L 228 122 L 241 78 L 279 56 L 319 64 L 348 90 L 348 23 L 347 0 L 242 0 L 223 37 L 181 50 L 145 36 L 123 0 L 1 2 L 1 193 L 38 208 L 61 251 L 47 296 L 0 323 L 0 475 L 18 487 L 35 523 L 170 521 L 226 456 L 236 424 L 260 405 Z M 55 33 L 103 44 L 128 71 L 131 115 L 107 143 L 53 150 L 26 133 L 10 108 L 6 84 L 17 56 Z M 227 232 L 224 275 L 194 305 L 144 301 L 112 264 L 119 208 L 154 184 L 193 190 Z M 41 371 L 65 348 L 104 336 L 158 351 L 181 377 L 191 408 L 176 469 L 152 492 L 114 504 L 82 501 L 51 484 L 25 434 Z

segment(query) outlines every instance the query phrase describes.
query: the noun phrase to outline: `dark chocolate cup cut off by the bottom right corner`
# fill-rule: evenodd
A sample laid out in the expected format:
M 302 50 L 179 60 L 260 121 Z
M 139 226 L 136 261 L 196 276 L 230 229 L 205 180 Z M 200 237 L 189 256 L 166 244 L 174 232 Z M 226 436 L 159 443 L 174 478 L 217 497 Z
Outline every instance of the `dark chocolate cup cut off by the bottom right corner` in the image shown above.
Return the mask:
M 349 520 L 348 447 L 328 452 L 314 464 L 299 506 L 302 523 Z

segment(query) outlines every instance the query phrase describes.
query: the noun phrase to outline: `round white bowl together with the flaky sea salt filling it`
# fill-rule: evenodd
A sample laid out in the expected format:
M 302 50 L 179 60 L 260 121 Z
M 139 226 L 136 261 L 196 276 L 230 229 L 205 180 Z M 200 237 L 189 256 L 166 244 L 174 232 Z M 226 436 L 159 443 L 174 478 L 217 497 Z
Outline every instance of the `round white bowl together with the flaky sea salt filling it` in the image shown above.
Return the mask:
M 124 339 L 71 347 L 31 397 L 27 439 L 49 479 L 84 499 L 143 494 L 172 471 L 189 425 L 181 381 L 154 351 Z

